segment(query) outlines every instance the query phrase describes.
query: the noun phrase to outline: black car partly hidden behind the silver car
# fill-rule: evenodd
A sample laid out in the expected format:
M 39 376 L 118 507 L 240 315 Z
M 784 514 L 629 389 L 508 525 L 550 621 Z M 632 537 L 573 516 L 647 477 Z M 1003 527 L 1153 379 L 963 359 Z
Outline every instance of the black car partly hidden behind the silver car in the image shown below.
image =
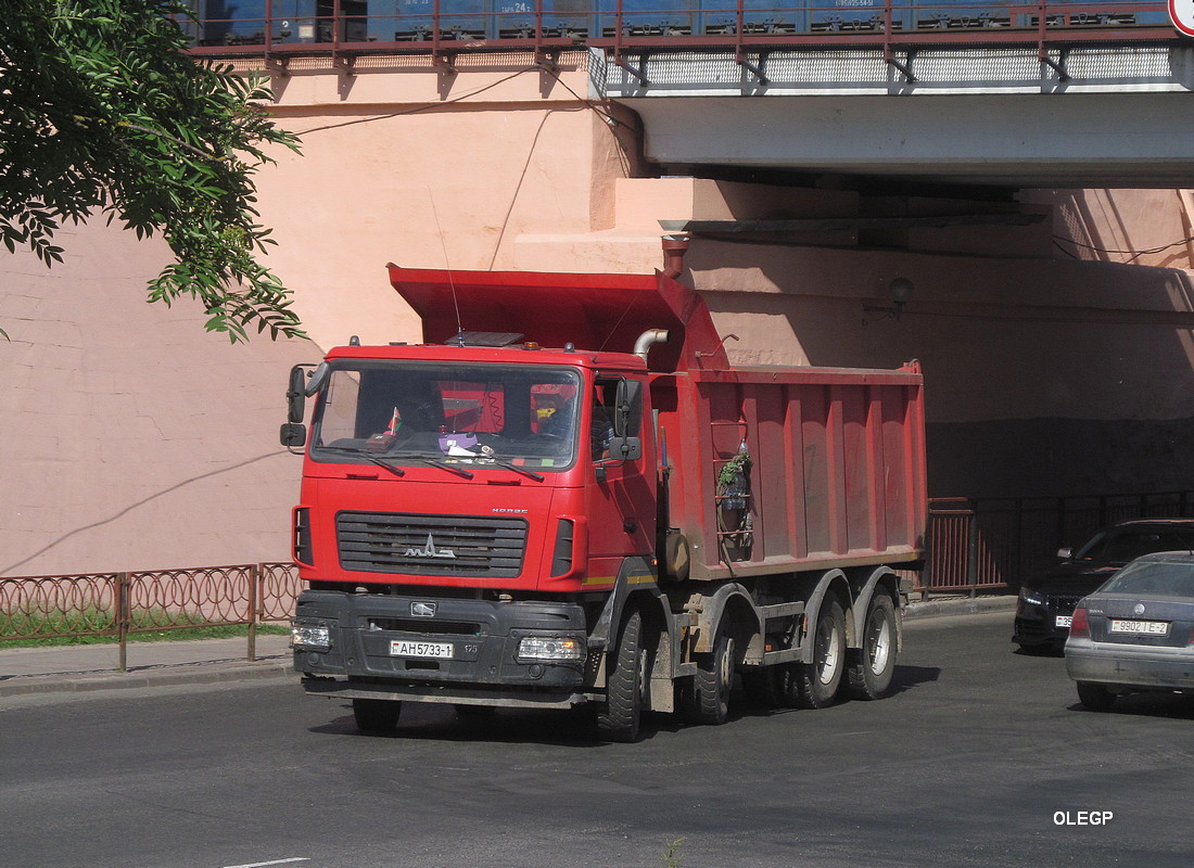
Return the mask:
M 1138 518 L 1100 530 L 1077 552 L 1020 589 L 1011 641 L 1024 650 L 1060 650 L 1078 601 L 1128 561 L 1153 552 L 1194 550 L 1194 518 Z

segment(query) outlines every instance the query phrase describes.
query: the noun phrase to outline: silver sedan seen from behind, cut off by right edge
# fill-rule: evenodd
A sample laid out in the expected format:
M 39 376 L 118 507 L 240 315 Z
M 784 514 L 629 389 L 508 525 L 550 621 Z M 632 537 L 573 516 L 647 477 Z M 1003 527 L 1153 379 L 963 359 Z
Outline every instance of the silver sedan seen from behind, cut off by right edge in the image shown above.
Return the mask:
M 1125 694 L 1194 692 L 1194 553 L 1138 558 L 1084 597 L 1065 669 L 1096 712 Z

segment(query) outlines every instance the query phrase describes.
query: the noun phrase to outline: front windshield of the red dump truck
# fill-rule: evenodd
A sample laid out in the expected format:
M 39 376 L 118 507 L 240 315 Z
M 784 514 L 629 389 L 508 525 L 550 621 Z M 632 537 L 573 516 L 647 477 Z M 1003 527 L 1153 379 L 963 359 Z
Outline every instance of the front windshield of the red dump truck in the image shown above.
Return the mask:
M 568 368 L 334 362 L 315 408 L 310 455 L 359 463 L 353 454 L 363 453 L 399 467 L 564 470 L 577 457 L 580 386 Z

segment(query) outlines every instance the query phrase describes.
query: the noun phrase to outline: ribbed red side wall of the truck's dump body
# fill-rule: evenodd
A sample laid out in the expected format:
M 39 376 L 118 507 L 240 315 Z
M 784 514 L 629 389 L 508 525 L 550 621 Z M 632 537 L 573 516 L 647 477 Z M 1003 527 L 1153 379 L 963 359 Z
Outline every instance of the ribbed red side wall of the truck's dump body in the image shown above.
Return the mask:
M 659 378 L 671 523 L 693 547 L 691 578 L 917 561 L 925 525 L 918 365 L 700 370 Z M 657 401 L 658 406 L 658 401 Z M 722 468 L 745 447 L 749 544 L 726 527 Z M 738 516 L 733 517 L 738 521 Z M 737 524 L 736 524 L 737 527 Z

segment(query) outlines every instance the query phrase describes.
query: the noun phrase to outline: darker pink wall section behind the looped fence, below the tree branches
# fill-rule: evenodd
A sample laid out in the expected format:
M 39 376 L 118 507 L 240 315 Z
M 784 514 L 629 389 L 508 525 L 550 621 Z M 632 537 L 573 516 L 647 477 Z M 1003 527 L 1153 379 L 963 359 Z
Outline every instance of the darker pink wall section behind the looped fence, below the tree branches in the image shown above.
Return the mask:
M 166 261 L 103 221 L 66 261 L 0 257 L 0 575 L 289 558 L 298 458 L 278 445 L 304 340 L 230 346 L 189 300 L 147 304 Z

